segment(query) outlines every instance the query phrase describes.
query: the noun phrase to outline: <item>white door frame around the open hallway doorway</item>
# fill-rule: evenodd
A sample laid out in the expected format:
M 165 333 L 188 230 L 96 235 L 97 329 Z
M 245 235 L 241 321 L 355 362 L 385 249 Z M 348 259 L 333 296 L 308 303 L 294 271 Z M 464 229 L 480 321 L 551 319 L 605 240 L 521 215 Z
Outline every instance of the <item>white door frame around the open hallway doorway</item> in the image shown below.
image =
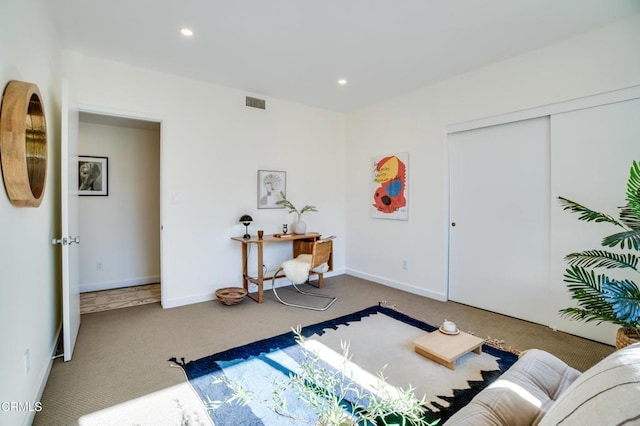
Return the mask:
M 160 125 L 160 140 L 159 140 L 159 149 L 160 149 L 160 182 L 159 182 L 159 186 L 160 186 L 160 229 L 158 229 L 158 232 L 160 233 L 160 305 L 161 306 L 165 306 L 166 305 L 166 300 L 167 300 L 167 296 L 166 296 L 166 287 L 165 287 L 165 280 L 163 278 L 163 274 L 162 271 L 164 270 L 164 265 L 165 265 L 165 259 L 164 259 L 164 253 L 165 251 L 163 250 L 164 247 L 164 232 L 162 232 L 163 229 L 163 194 L 164 194 L 164 188 L 165 188 L 165 184 L 164 184 L 164 178 L 163 178 L 163 157 L 164 157 L 164 149 L 163 149 L 163 139 L 164 139 L 164 125 L 166 123 L 166 118 L 161 116 L 161 115 L 157 115 L 157 114 L 151 114 L 151 113 L 144 113 L 144 112 L 139 112 L 139 111 L 128 111 L 128 110 L 122 110 L 122 109 L 116 109 L 116 108 L 108 108 L 108 107 L 102 107 L 102 106 L 97 106 L 97 105 L 89 105 L 89 104 L 78 104 L 77 105 L 78 111 L 80 113 L 87 113 L 87 114 L 94 114 L 94 115 L 102 115 L 102 116 L 107 116 L 107 117 L 116 117 L 116 118 L 124 118 L 124 119 L 131 119 L 131 120 L 138 120 L 138 121 L 148 121 L 148 122 L 152 122 L 152 123 L 158 123 Z

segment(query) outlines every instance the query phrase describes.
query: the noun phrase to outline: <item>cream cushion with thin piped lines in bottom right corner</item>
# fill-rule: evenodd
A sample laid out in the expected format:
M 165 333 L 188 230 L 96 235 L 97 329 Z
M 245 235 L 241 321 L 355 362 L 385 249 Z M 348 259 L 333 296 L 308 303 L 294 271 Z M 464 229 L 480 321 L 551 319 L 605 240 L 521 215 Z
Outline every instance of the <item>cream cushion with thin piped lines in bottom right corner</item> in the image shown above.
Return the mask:
M 640 423 L 640 343 L 585 371 L 540 421 L 549 425 Z

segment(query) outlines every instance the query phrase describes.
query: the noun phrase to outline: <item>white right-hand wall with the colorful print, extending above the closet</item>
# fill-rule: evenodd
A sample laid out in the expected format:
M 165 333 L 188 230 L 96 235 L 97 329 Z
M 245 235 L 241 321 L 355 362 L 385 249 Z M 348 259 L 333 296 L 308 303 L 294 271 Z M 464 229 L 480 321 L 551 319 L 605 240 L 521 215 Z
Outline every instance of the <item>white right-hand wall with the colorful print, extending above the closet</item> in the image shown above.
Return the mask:
M 447 126 L 638 85 L 638 46 L 640 15 L 349 114 L 347 272 L 446 299 Z M 401 151 L 410 220 L 372 219 L 370 157 Z

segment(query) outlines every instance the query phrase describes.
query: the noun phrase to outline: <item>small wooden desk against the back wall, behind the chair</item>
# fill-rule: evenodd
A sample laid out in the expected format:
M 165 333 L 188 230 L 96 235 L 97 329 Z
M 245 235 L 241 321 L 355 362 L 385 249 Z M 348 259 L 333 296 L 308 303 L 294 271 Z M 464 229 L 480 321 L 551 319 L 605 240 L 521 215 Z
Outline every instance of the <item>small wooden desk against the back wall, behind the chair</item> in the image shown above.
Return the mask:
M 262 239 L 258 237 L 251 238 L 242 238 L 242 237 L 232 237 L 231 239 L 234 241 L 238 241 L 242 243 L 242 287 L 247 290 L 247 296 L 251 299 L 255 300 L 258 303 L 264 302 L 264 281 L 270 280 L 273 276 L 265 276 L 264 271 L 262 269 L 263 262 L 263 250 L 264 245 L 269 243 L 286 243 L 293 242 L 293 257 L 295 258 L 300 253 L 304 253 L 304 243 L 305 242 L 313 242 L 320 238 L 320 234 L 317 232 L 311 232 L 308 234 L 287 234 L 288 237 L 274 237 L 273 235 L 264 235 Z M 248 256 L 248 247 L 249 244 L 255 244 L 258 249 L 258 276 L 252 277 L 247 272 L 247 256 Z M 329 258 L 329 270 L 333 270 L 333 256 Z M 282 276 L 277 276 L 276 278 L 282 278 Z M 258 286 L 257 295 L 253 295 L 249 293 L 249 283 L 255 284 Z

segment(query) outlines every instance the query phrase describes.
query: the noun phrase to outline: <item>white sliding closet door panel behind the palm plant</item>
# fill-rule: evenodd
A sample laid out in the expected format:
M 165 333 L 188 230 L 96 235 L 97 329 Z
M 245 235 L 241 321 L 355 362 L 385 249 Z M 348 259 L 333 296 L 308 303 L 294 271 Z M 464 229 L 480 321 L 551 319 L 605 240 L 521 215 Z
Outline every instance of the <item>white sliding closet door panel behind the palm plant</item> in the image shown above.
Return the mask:
M 562 210 L 558 196 L 617 218 L 625 204 L 633 160 L 640 161 L 640 99 L 555 114 L 551 117 L 551 287 L 549 324 L 578 336 L 613 344 L 616 326 L 561 319 L 557 312 L 573 306 L 562 276 L 564 256 L 601 249 L 602 238 L 622 229 L 588 223 Z M 623 270 L 608 270 L 620 279 Z M 637 274 L 636 274 L 637 276 Z M 637 282 L 637 281 L 636 281 Z

